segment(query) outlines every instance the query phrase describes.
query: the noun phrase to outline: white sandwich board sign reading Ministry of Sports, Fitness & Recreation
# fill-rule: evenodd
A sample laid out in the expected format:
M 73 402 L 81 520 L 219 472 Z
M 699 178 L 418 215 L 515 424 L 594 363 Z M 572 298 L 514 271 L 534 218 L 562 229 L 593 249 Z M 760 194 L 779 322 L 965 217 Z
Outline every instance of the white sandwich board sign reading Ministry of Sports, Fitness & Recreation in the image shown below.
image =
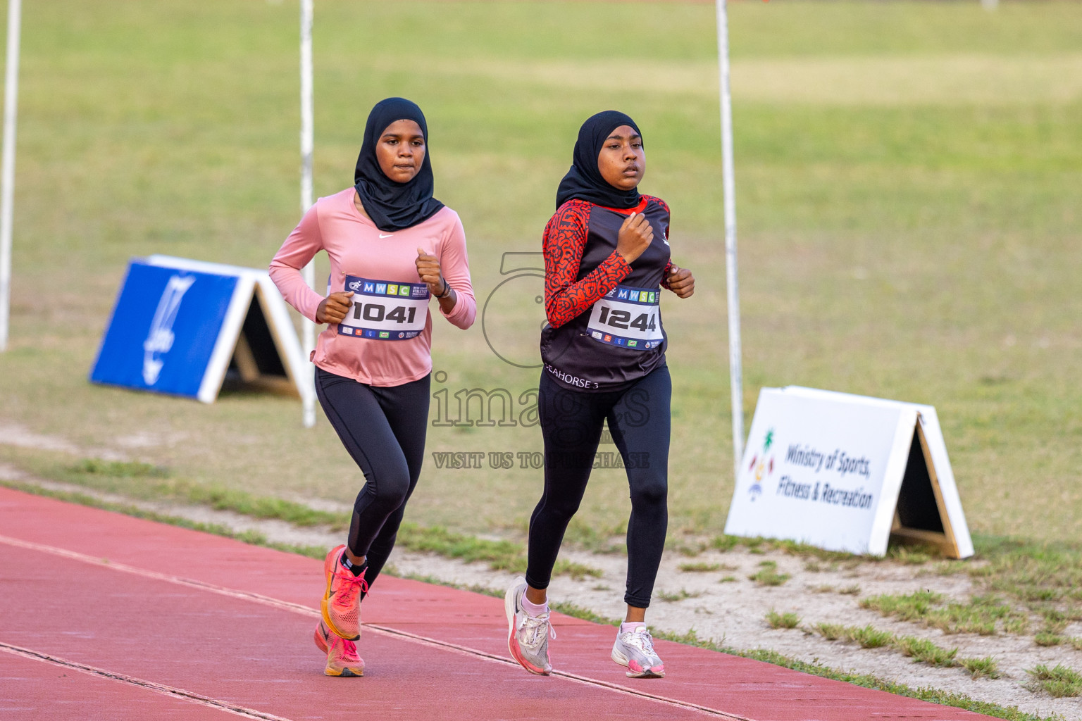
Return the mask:
M 883 556 L 892 534 L 973 556 L 936 410 L 763 388 L 725 533 Z

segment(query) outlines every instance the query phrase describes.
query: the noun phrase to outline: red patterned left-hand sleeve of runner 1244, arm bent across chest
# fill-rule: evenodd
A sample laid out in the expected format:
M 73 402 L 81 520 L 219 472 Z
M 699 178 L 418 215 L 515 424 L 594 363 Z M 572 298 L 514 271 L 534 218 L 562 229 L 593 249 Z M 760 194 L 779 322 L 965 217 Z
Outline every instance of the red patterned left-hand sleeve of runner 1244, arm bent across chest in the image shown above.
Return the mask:
M 631 272 L 623 256 L 612 251 L 590 275 L 575 280 L 586 245 L 589 222 L 590 203 L 569 200 L 544 228 L 544 310 L 553 328 L 582 315 Z

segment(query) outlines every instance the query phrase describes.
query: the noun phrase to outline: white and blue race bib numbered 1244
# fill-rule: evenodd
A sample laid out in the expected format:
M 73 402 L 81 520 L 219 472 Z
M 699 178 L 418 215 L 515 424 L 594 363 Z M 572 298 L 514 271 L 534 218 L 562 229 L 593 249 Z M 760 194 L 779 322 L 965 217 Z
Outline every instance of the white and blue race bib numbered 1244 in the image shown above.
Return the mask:
M 594 303 L 586 324 L 590 337 L 636 350 L 657 348 L 665 338 L 660 296 L 656 288 L 617 285 Z

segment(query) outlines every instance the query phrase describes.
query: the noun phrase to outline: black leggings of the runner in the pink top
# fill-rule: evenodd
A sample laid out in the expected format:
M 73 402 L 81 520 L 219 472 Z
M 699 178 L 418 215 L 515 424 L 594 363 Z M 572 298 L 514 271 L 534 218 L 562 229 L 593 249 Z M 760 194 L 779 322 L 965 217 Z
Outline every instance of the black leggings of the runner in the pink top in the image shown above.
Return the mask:
M 406 502 L 424 460 L 428 383 L 367 386 L 316 368 L 316 396 L 345 450 L 365 473 L 353 505 L 349 550 L 367 556 L 371 584 L 395 547 Z

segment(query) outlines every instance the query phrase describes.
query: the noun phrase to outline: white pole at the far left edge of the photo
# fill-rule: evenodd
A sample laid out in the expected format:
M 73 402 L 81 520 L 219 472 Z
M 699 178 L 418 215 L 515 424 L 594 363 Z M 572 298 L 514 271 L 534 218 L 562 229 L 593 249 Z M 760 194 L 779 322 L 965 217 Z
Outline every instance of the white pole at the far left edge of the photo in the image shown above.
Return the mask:
M 11 315 L 11 226 L 15 203 L 15 117 L 22 0 L 8 0 L 8 61 L 3 91 L 3 169 L 0 171 L 0 351 L 8 349 Z

